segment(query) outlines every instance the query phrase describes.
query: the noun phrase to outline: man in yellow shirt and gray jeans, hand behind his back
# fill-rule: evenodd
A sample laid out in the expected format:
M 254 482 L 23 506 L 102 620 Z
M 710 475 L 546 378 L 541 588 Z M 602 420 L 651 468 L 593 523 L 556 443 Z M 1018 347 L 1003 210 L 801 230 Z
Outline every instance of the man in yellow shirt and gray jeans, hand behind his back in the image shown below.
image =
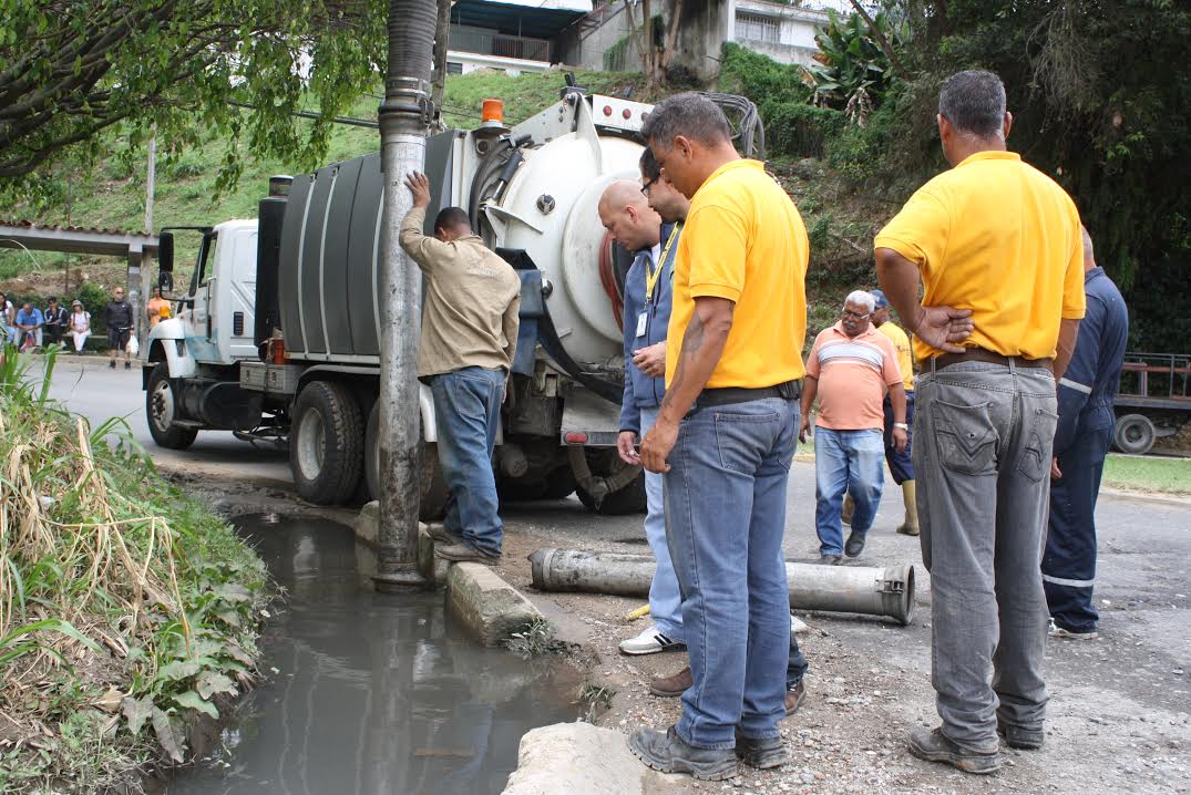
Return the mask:
M 942 726 L 912 732 L 910 751 L 986 774 L 1000 765 L 998 732 L 1011 747 L 1042 745 L 1040 565 L 1055 380 L 1084 314 L 1083 246 L 1071 198 L 1005 150 L 1012 115 L 997 75 L 952 75 L 937 121 L 954 168 L 875 242 L 881 288 L 923 363 L 913 465 Z

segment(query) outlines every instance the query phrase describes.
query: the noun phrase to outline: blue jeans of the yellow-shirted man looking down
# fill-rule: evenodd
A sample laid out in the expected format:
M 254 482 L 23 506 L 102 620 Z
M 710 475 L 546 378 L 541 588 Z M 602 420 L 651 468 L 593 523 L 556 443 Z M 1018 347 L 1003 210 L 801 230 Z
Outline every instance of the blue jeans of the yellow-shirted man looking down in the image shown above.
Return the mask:
M 693 684 L 675 725 L 690 745 L 730 749 L 779 735 L 790 591 L 781 539 L 798 403 L 780 398 L 696 408 L 666 474 L 671 557 L 682 589 Z

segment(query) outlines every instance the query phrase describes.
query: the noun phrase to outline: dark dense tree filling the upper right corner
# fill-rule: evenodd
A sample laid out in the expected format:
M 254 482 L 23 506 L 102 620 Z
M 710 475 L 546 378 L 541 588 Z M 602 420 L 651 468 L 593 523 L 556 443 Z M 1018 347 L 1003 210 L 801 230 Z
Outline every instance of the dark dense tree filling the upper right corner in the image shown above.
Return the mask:
M 1121 284 L 1133 344 L 1191 340 L 1191 5 L 1174 0 L 908 0 L 898 138 L 937 168 L 939 84 L 991 69 L 1014 112 L 1010 148 L 1075 200 L 1097 261 Z M 904 168 L 912 152 L 887 156 Z

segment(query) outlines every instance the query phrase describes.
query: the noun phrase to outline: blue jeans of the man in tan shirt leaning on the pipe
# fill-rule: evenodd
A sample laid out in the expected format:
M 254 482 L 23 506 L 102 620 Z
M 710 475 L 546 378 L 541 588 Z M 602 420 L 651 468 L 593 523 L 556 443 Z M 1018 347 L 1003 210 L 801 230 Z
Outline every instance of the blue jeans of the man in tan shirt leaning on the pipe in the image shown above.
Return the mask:
M 443 525 L 468 546 L 488 555 L 500 553 L 504 538 L 492 474 L 504 388 L 504 370 L 479 367 L 436 375 L 430 382 L 438 464 L 450 489 Z

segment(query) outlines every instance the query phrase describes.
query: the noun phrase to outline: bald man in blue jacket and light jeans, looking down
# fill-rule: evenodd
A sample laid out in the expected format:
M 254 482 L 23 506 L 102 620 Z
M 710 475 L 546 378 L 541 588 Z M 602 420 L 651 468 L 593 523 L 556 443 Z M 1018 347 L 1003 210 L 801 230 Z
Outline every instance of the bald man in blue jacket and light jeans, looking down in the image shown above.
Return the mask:
M 600 223 L 617 243 L 635 252 L 624 280 L 624 399 L 621 402 L 621 459 L 640 465 L 636 445 L 657 420 L 666 394 L 666 330 L 671 311 L 678 226 L 662 224 L 649 207 L 641 183 L 617 180 L 599 201 Z M 678 575 L 666 542 L 662 476 L 646 472 L 646 540 L 657 561 L 649 586 L 653 624 L 635 638 L 621 641 L 623 655 L 654 655 L 685 649 L 682 602 Z

